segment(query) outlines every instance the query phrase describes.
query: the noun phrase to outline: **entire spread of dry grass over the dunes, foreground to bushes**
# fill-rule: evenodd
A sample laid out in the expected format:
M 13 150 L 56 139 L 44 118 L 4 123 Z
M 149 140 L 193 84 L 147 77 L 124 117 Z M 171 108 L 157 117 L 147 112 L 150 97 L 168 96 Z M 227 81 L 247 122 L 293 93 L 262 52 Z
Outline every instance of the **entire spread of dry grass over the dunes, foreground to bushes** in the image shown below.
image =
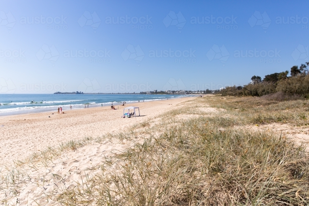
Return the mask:
M 49 203 L 308 205 L 309 159 L 306 145 L 295 144 L 271 131 L 252 132 L 234 128 L 235 125 L 284 121 L 306 125 L 307 103 L 307 100 L 276 102 L 260 98 L 197 98 L 159 116 L 159 122 L 150 124 L 153 120 L 148 120 L 124 133 L 67 143 L 62 147 L 74 150 L 106 138 L 123 141 L 134 140 L 141 135 L 145 137 L 144 143 L 102 159 L 103 164 L 86 182 L 49 194 Z M 217 108 L 218 112 L 209 116 L 196 109 L 205 105 Z M 182 114 L 202 116 L 188 120 L 175 118 Z M 30 159 L 48 164 L 57 152 L 51 153 L 40 153 Z M 11 173 L 9 181 L 20 179 L 16 170 Z

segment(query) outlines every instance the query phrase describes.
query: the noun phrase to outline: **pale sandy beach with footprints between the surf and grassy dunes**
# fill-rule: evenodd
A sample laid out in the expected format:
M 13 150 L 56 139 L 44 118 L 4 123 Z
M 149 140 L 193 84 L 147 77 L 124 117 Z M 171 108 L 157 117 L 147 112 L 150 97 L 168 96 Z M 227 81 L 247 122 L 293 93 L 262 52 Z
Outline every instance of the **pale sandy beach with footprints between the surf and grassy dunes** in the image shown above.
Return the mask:
M 57 111 L 54 111 L 1 116 L 0 163 L 23 160 L 33 152 L 47 146 L 57 146 L 71 139 L 98 137 L 108 132 L 122 131 L 193 98 L 126 104 L 125 107 L 140 107 L 141 116 L 136 118 L 121 118 L 124 106 L 119 106 L 117 110 L 105 106 L 64 111 L 65 114 L 57 114 Z

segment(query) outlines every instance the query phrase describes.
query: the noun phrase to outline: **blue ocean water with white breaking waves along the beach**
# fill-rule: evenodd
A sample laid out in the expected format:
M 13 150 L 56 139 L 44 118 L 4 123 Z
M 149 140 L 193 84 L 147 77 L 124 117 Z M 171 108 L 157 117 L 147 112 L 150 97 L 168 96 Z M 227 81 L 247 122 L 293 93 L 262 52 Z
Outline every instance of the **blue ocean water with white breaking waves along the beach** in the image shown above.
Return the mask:
M 0 94 L 0 116 L 120 105 L 126 103 L 180 98 L 189 95 L 142 95 L 142 94 Z

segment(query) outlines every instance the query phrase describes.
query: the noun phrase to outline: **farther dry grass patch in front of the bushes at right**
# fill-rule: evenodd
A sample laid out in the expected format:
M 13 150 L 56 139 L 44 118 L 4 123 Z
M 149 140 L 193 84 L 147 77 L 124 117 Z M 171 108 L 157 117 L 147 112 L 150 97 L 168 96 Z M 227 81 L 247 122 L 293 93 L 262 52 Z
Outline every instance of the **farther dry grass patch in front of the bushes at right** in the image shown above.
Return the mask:
M 223 108 L 237 119 L 238 124 L 291 123 L 301 126 L 309 124 L 309 101 L 273 101 L 263 97 L 211 98 L 210 106 Z

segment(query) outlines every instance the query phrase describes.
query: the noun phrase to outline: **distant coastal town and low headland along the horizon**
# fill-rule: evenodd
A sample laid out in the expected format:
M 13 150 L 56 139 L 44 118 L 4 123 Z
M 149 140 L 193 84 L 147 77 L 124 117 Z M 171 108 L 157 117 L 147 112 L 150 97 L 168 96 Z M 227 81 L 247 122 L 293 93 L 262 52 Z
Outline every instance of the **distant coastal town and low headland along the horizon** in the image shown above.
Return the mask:
M 217 93 L 220 90 L 197 90 L 197 91 L 188 91 L 188 90 L 153 90 L 153 91 L 141 91 L 140 93 L 84 93 L 82 91 L 76 91 L 76 92 L 55 92 L 54 94 L 73 94 L 73 95 L 83 95 L 83 94 L 142 94 L 142 95 L 191 95 L 191 94 L 210 94 L 210 93 Z

